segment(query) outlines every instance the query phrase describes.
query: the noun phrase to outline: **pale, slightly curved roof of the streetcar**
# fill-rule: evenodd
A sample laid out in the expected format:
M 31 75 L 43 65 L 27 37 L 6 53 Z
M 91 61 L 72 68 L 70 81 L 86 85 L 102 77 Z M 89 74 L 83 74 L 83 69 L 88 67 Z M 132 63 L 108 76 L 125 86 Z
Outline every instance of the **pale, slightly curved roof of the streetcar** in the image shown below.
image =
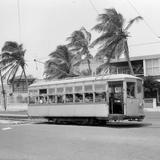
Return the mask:
M 46 85 L 58 85 L 66 83 L 75 83 L 75 82 L 89 82 L 89 81 L 98 81 L 98 80 L 124 80 L 124 79 L 141 79 L 128 74 L 112 74 L 112 75 L 101 75 L 101 76 L 90 76 L 90 77 L 75 77 L 67 78 L 62 80 L 39 80 L 31 84 L 31 87 L 46 86 Z

